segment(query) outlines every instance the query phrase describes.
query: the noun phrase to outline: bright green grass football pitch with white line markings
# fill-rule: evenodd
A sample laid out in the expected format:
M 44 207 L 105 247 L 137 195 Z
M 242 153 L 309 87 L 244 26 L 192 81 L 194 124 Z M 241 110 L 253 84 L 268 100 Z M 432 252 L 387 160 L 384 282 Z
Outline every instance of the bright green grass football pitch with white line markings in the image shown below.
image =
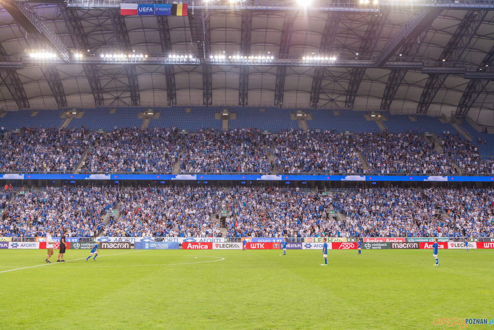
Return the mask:
M 431 250 L 333 250 L 321 267 L 317 250 L 100 250 L 89 262 L 68 250 L 51 265 L 44 250 L 0 250 L 0 325 L 456 329 L 432 322 L 494 317 L 494 252 L 439 252 L 435 267 Z

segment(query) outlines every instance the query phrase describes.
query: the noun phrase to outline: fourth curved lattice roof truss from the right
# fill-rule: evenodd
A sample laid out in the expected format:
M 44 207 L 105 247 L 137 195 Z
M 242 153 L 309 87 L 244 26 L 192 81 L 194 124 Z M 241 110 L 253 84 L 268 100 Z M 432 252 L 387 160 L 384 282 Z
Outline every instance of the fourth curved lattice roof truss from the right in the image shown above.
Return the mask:
M 366 34 L 362 40 L 362 45 L 359 49 L 359 54 L 364 56 L 371 56 L 374 51 L 379 37 L 381 36 L 384 23 L 386 22 L 388 12 L 382 12 L 373 16 L 367 27 Z M 360 83 L 364 79 L 364 74 L 366 73 L 365 68 L 354 68 L 350 72 L 350 81 L 348 82 L 348 90 L 345 99 L 345 106 L 353 108 L 353 103 L 355 102 L 355 97 L 359 91 Z

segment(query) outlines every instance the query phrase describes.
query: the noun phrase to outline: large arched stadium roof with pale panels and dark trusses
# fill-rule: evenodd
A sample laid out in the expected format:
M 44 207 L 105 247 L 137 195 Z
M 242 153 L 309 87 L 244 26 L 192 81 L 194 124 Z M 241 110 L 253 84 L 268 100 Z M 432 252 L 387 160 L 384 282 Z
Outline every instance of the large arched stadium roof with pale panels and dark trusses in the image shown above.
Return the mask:
M 194 14 L 189 4 L 189 16 L 166 17 L 122 16 L 119 8 L 66 3 L 2 4 L 0 55 L 9 57 L 1 66 L 0 99 L 7 107 L 318 104 L 448 116 L 472 108 L 474 119 L 479 109 L 492 117 L 492 4 L 469 10 L 382 5 L 367 11 L 211 5 Z M 41 17 L 64 46 L 39 27 L 30 29 L 16 16 L 19 8 Z M 50 47 L 57 63 L 29 57 Z M 120 57 L 101 57 L 127 53 L 149 60 L 122 64 Z M 229 59 L 240 54 L 252 61 Z M 193 58 L 166 64 L 169 55 Z M 262 56 L 269 58 L 261 61 Z

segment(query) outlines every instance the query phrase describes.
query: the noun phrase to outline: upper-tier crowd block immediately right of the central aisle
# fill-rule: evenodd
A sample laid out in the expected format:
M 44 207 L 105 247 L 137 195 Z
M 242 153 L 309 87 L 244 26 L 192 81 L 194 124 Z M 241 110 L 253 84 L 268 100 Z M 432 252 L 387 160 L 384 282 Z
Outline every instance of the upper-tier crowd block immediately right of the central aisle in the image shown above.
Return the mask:
M 355 140 L 329 131 L 282 131 L 274 149 L 277 169 L 284 173 L 362 173 Z

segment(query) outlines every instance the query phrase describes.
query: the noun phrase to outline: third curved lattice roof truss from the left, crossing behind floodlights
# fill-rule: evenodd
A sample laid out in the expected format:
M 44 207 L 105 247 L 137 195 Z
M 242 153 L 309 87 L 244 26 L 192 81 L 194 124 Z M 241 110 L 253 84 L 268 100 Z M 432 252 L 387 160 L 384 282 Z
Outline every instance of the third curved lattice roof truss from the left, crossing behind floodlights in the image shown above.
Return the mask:
M 77 10 L 67 9 L 62 3 L 58 4 L 58 8 L 64 18 L 65 26 L 69 31 L 70 38 L 76 50 L 80 53 L 85 53 L 86 50 L 90 49 L 90 45 Z M 94 96 L 94 104 L 96 106 L 103 105 L 103 88 L 99 79 L 98 67 L 96 64 L 82 64 L 82 69 L 84 69 L 87 82 Z

